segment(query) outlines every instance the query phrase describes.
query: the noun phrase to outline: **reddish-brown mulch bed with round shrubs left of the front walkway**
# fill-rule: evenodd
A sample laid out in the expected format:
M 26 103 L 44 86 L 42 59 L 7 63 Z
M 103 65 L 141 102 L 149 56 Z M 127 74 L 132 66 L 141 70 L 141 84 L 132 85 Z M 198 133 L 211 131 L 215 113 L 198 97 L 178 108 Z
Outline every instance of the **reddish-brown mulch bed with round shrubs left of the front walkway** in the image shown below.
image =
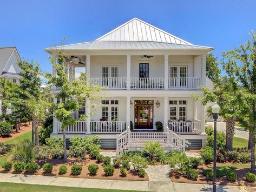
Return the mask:
M 46 175 L 46 176 L 60 176 L 60 177 L 74 177 L 74 178 L 97 178 L 97 179 L 104 179 L 104 180 L 129 180 L 129 181 L 148 181 L 148 175 L 146 174 L 144 178 L 140 177 L 139 175 L 135 175 L 133 171 L 129 170 L 127 171 L 127 176 L 122 177 L 120 173 L 120 168 L 115 169 L 113 176 L 105 176 L 104 170 L 102 167 L 103 163 L 97 163 L 97 160 L 92 160 L 89 155 L 86 155 L 85 160 L 79 160 L 77 158 L 68 158 L 68 163 L 65 163 L 63 160 L 43 160 L 43 161 L 36 161 L 38 164 L 40 164 L 41 168 L 37 170 L 37 172 L 33 175 Z M 52 163 L 54 165 L 52 169 L 52 173 L 44 173 L 43 171 L 43 164 L 44 163 Z M 58 168 L 61 164 L 66 164 L 68 167 L 68 172 L 66 174 L 59 174 Z M 71 175 L 71 166 L 73 164 L 81 164 L 83 165 L 82 173 L 80 175 L 74 176 Z M 97 171 L 96 175 L 91 175 L 88 171 L 88 166 L 90 164 L 97 164 L 99 165 L 99 170 Z M 0 168 L 1 173 L 13 173 L 13 174 L 26 174 L 25 171 L 22 173 L 16 173 L 13 169 L 6 172 L 2 168 Z

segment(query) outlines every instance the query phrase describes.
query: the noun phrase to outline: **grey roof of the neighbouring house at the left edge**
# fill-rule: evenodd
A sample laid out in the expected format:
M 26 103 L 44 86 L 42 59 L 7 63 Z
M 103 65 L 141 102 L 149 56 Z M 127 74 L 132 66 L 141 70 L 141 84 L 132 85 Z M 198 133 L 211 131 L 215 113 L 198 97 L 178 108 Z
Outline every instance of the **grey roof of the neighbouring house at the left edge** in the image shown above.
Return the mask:
M 7 77 L 7 78 L 20 78 L 21 77 L 18 74 L 3 71 L 5 66 L 6 66 L 6 64 L 9 61 L 12 53 L 15 50 L 17 51 L 16 47 L 3 47 L 3 48 L 0 48 L 0 77 Z M 17 54 L 18 54 L 18 52 L 17 52 Z

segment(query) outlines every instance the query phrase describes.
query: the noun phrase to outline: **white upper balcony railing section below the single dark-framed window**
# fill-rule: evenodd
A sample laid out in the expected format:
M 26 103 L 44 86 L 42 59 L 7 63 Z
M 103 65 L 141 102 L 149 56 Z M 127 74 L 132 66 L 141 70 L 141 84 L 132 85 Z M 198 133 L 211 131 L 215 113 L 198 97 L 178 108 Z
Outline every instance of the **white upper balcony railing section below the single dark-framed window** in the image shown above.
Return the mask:
M 130 78 L 130 89 L 164 89 L 165 78 Z

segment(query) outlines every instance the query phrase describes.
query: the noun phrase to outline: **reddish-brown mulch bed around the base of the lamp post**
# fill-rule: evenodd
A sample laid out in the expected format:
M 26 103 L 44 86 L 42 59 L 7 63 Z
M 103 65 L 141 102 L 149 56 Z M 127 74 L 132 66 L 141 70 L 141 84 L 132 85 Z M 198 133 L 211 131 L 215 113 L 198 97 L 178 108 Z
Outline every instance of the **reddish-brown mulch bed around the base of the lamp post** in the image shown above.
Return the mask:
M 235 165 L 232 163 L 217 163 L 217 166 L 221 165 Z M 199 171 L 199 177 L 197 181 L 188 180 L 187 178 L 183 176 L 179 176 L 176 174 L 170 175 L 170 180 L 172 182 L 176 183 L 201 183 L 201 184 L 212 184 L 212 181 L 209 181 L 208 178 L 202 174 L 202 171 L 205 169 L 213 167 L 213 164 L 207 164 L 207 165 L 200 165 L 198 167 Z M 227 186 L 250 186 L 250 187 L 256 187 L 256 183 L 254 182 L 248 182 L 245 180 L 245 174 L 250 172 L 250 168 L 238 168 L 234 170 L 235 173 L 237 173 L 237 181 L 229 181 L 227 180 L 227 177 L 218 177 L 216 178 L 216 183 L 219 185 L 227 185 Z

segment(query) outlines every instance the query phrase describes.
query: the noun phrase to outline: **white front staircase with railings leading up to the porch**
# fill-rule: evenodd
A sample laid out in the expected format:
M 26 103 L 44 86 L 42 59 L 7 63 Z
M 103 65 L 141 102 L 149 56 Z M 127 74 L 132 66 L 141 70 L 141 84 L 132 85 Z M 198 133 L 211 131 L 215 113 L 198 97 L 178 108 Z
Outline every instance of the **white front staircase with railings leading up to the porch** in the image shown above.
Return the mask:
M 120 154 L 128 148 L 143 148 L 148 141 L 159 142 L 163 148 L 185 150 L 186 141 L 168 129 L 167 133 L 123 131 L 116 138 L 116 153 Z

